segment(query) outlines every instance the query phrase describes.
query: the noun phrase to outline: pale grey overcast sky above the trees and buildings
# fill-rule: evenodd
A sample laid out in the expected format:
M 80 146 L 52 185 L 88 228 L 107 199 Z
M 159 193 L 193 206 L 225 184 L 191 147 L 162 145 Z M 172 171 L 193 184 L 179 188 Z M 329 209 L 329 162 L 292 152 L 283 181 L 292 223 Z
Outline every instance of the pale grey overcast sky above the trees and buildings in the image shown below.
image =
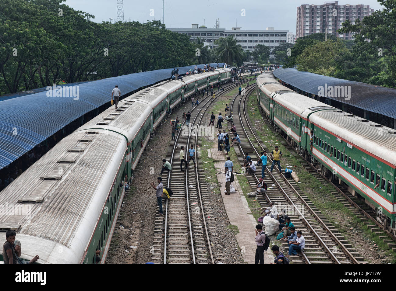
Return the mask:
M 117 0 L 66 0 L 66 4 L 75 10 L 95 15 L 94 21 L 116 19 Z M 327 2 L 327 1 L 326 1 Z M 220 19 L 220 28 L 227 30 L 238 27 L 249 30 L 264 30 L 274 27 L 276 30 L 289 30 L 296 33 L 297 6 L 302 4 L 324 4 L 323 0 L 301 2 L 298 0 L 165 0 L 165 25 L 168 28 L 191 28 L 192 23 L 213 28 L 216 19 Z M 375 10 L 383 8 L 376 0 L 346 0 L 339 5 L 365 4 Z M 150 9 L 153 9 L 150 11 Z M 241 15 L 245 9 L 246 16 Z M 154 16 L 151 16 L 154 14 Z M 125 21 L 146 22 L 162 21 L 162 0 L 124 0 Z

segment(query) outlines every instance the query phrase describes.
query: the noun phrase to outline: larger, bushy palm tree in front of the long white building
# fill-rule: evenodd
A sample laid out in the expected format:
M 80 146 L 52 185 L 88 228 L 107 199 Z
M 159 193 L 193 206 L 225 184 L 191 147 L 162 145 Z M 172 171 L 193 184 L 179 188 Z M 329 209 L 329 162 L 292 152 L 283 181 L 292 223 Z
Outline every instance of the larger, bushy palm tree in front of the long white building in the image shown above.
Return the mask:
M 215 44 L 217 59 L 215 61 L 227 62 L 231 65 L 234 61 L 242 59 L 242 46 L 236 44 L 234 36 L 227 36 L 226 38 L 219 38 Z

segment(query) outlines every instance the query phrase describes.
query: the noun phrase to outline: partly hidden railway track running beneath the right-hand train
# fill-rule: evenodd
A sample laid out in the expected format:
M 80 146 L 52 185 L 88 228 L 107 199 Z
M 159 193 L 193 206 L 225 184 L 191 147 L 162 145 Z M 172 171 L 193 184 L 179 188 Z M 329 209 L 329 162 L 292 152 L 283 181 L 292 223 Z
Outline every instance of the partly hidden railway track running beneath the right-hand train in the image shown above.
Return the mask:
M 295 159 L 301 164 L 301 166 L 312 176 L 314 176 L 318 181 L 320 181 L 324 187 L 330 189 L 328 183 L 331 184 L 337 192 L 331 192 L 331 194 L 337 198 L 346 208 L 349 208 L 356 217 L 358 217 L 367 227 L 383 239 L 383 242 L 388 245 L 389 249 L 396 251 L 396 236 L 391 232 L 383 228 L 383 225 L 375 219 L 376 212 L 373 211 L 366 203 L 354 197 L 348 190 L 348 185 L 343 183 L 342 185 L 336 184 L 330 181 L 320 169 L 316 168 L 310 161 L 305 161 L 304 158 L 299 155 L 298 150 L 293 147 L 279 132 L 277 132 L 273 125 L 268 121 L 266 117 L 263 117 L 266 125 L 272 133 L 274 138 L 278 139 L 280 143 L 289 151 Z M 391 239 L 390 239 L 391 238 Z

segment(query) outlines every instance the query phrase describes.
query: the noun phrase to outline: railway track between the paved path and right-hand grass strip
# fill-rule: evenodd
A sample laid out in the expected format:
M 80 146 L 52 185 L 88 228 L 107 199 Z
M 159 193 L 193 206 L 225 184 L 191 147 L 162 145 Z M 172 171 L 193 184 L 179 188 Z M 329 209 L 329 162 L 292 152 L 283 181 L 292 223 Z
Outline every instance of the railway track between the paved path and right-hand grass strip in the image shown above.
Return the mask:
M 248 152 L 252 160 L 259 159 L 259 151 L 269 149 L 265 148 L 254 134 L 253 129 L 249 125 L 249 119 L 246 115 L 245 103 L 247 96 L 253 91 L 254 87 L 247 91 L 244 96 L 235 96 L 232 102 L 232 112 L 238 112 L 239 117 L 234 118 L 234 124 L 237 128 L 242 128 L 239 131 L 241 144 L 239 151 L 236 150 L 238 160 L 243 161 L 244 153 Z M 246 127 L 246 128 L 245 128 Z M 270 163 L 272 160 L 268 157 Z M 242 165 L 243 166 L 243 165 Z M 297 230 L 303 232 L 305 237 L 305 249 L 299 255 L 290 256 L 293 263 L 362 263 L 363 257 L 360 257 L 356 249 L 353 249 L 345 238 L 335 229 L 331 223 L 321 214 L 308 197 L 299 189 L 294 181 L 288 181 L 279 172 L 278 168 L 271 174 L 269 169 L 266 169 L 266 178 L 264 179 L 267 185 L 272 185 L 272 189 L 268 189 L 265 197 L 258 197 L 258 201 L 263 207 L 268 207 L 270 202 L 277 204 L 278 209 L 285 209 L 291 221 Z M 261 167 L 257 167 L 257 173 L 261 173 Z M 257 176 L 247 176 L 250 185 L 255 189 L 258 183 Z M 271 187 L 271 186 L 270 186 Z M 281 208 L 280 208 L 281 207 Z M 287 247 L 285 242 L 282 242 L 284 247 Z

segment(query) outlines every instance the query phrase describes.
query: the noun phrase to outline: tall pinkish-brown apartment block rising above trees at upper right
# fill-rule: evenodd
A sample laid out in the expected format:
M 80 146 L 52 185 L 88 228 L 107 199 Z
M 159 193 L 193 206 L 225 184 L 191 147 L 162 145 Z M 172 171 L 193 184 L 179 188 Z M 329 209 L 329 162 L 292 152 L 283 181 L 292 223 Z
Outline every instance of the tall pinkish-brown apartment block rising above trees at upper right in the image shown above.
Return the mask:
M 338 5 L 338 1 L 322 5 L 301 5 L 297 7 L 297 38 L 318 32 L 333 34 L 339 38 L 350 40 L 354 33 L 339 34 L 337 30 L 349 19 L 362 20 L 374 12 L 369 5 Z

